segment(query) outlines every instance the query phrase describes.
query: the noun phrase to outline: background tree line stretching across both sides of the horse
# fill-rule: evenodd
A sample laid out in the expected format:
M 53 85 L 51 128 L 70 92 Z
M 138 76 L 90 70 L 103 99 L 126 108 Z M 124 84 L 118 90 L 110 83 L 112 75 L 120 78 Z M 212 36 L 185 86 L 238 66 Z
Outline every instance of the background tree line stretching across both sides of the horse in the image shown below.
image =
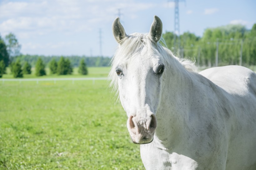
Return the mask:
M 253 25 L 251 30 L 247 30 L 242 25 L 207 28 L 202 37 L 190 32 L 185 32 L 182 35 L 165 32 L 163 38 L 165 40 L 163 45 L 172 50 L 175 55 L 181 58 L 189 57 L 198 66 L 256 65 L 256 24 Z M 53 67 L 53 60 L 56 61 L 57 65 L 62 63 L 67 67 L 56 72 L 58 74 L 72 73 L 71 68 L 80 66 L 81 61 L 89 67 L 109 66 L 111 61 L 111 57 L 20 54 L 20 49 L 21 45 L 14 34 L 6 35 L 5 40 L 0 35 L 0 77 L 6 72 L 8 65 L 12 66 L 13 64 L 17 68 L 22 68 L 23 66 L 22 69 L 26 69 L 28 65 L 29 67 L 36 67 L 39 59 L 49 67 Z M 64 60 L 66 64 L 64 64 Z M 23 70 L 23 73 L 29 72 Z

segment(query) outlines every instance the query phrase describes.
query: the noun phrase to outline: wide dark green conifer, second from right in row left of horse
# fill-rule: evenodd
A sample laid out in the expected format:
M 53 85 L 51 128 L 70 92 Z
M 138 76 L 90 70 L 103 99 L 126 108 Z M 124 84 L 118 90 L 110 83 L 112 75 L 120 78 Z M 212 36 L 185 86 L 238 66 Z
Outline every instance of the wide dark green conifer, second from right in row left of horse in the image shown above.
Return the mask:
M 66 74 L 71 74 L 72 72 L 73 72 L 73 68 L 71 66 L 69 59 L 65 60 L 64 57 L 61 57 L 61 59 L 58 62 L 57 74 L 66 75 Z

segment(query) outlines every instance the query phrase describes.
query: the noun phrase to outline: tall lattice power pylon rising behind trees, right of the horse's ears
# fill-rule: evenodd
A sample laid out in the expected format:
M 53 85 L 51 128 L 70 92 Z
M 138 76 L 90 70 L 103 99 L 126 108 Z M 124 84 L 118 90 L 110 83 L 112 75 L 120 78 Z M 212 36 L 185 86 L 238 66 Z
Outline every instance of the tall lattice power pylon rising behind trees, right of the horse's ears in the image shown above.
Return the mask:
M 185 0 L 169 0 L 169 2 L 175 2 L 175 10 L 174 10 L 174 50 L 175 50 L 175 53 L 178 52 L 179 55 L 180 55 L 180 14 L 179 14 L 179 2 L 185 2 Z M 176 40 L 176 39 L 178 39 L 178 40 Z M 178 43 L 176 43 L 177 41 L 178 41 Z

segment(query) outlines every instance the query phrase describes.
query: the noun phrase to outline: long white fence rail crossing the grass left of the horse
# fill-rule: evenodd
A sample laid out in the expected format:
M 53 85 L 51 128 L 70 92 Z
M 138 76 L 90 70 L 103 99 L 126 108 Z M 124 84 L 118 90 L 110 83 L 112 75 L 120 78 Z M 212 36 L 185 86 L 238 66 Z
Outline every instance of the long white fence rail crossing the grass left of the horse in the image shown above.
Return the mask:
M 108 78 L 106 77 L 100 77 L 100 78 L 3 78 L 0 79 L 0 81 L 2 81 L 2 84 L 4 84 L 4 82 L 37 82 L 37 84 L 40 81 L 53 81 L 54 83 L 56 83 L 57 81 L 72 81 L 72 83 L 74 84 L 75 81 L 79 81 L 79 80 L 92 80 L 92 83 L 95 83 L 95 80 L 107 80 Z

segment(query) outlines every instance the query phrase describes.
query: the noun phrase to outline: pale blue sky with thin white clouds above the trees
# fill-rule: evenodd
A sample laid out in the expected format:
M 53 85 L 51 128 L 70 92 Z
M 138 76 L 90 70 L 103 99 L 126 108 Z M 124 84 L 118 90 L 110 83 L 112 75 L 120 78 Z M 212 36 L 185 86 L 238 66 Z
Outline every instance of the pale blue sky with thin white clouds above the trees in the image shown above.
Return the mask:
M 22 54 L 111 57 L 118 9 L 128 35 L 149 32 L 154 15 L 163 33 L 174 31 L 175 4 L 168 0 L 0 0 L 0 35 L 15 34 Z M 251 29 L 255 9 L 255 0 L 186 0 L 179 3 L 180 33 L 202 36 L 206 28 L 228 24 Z

